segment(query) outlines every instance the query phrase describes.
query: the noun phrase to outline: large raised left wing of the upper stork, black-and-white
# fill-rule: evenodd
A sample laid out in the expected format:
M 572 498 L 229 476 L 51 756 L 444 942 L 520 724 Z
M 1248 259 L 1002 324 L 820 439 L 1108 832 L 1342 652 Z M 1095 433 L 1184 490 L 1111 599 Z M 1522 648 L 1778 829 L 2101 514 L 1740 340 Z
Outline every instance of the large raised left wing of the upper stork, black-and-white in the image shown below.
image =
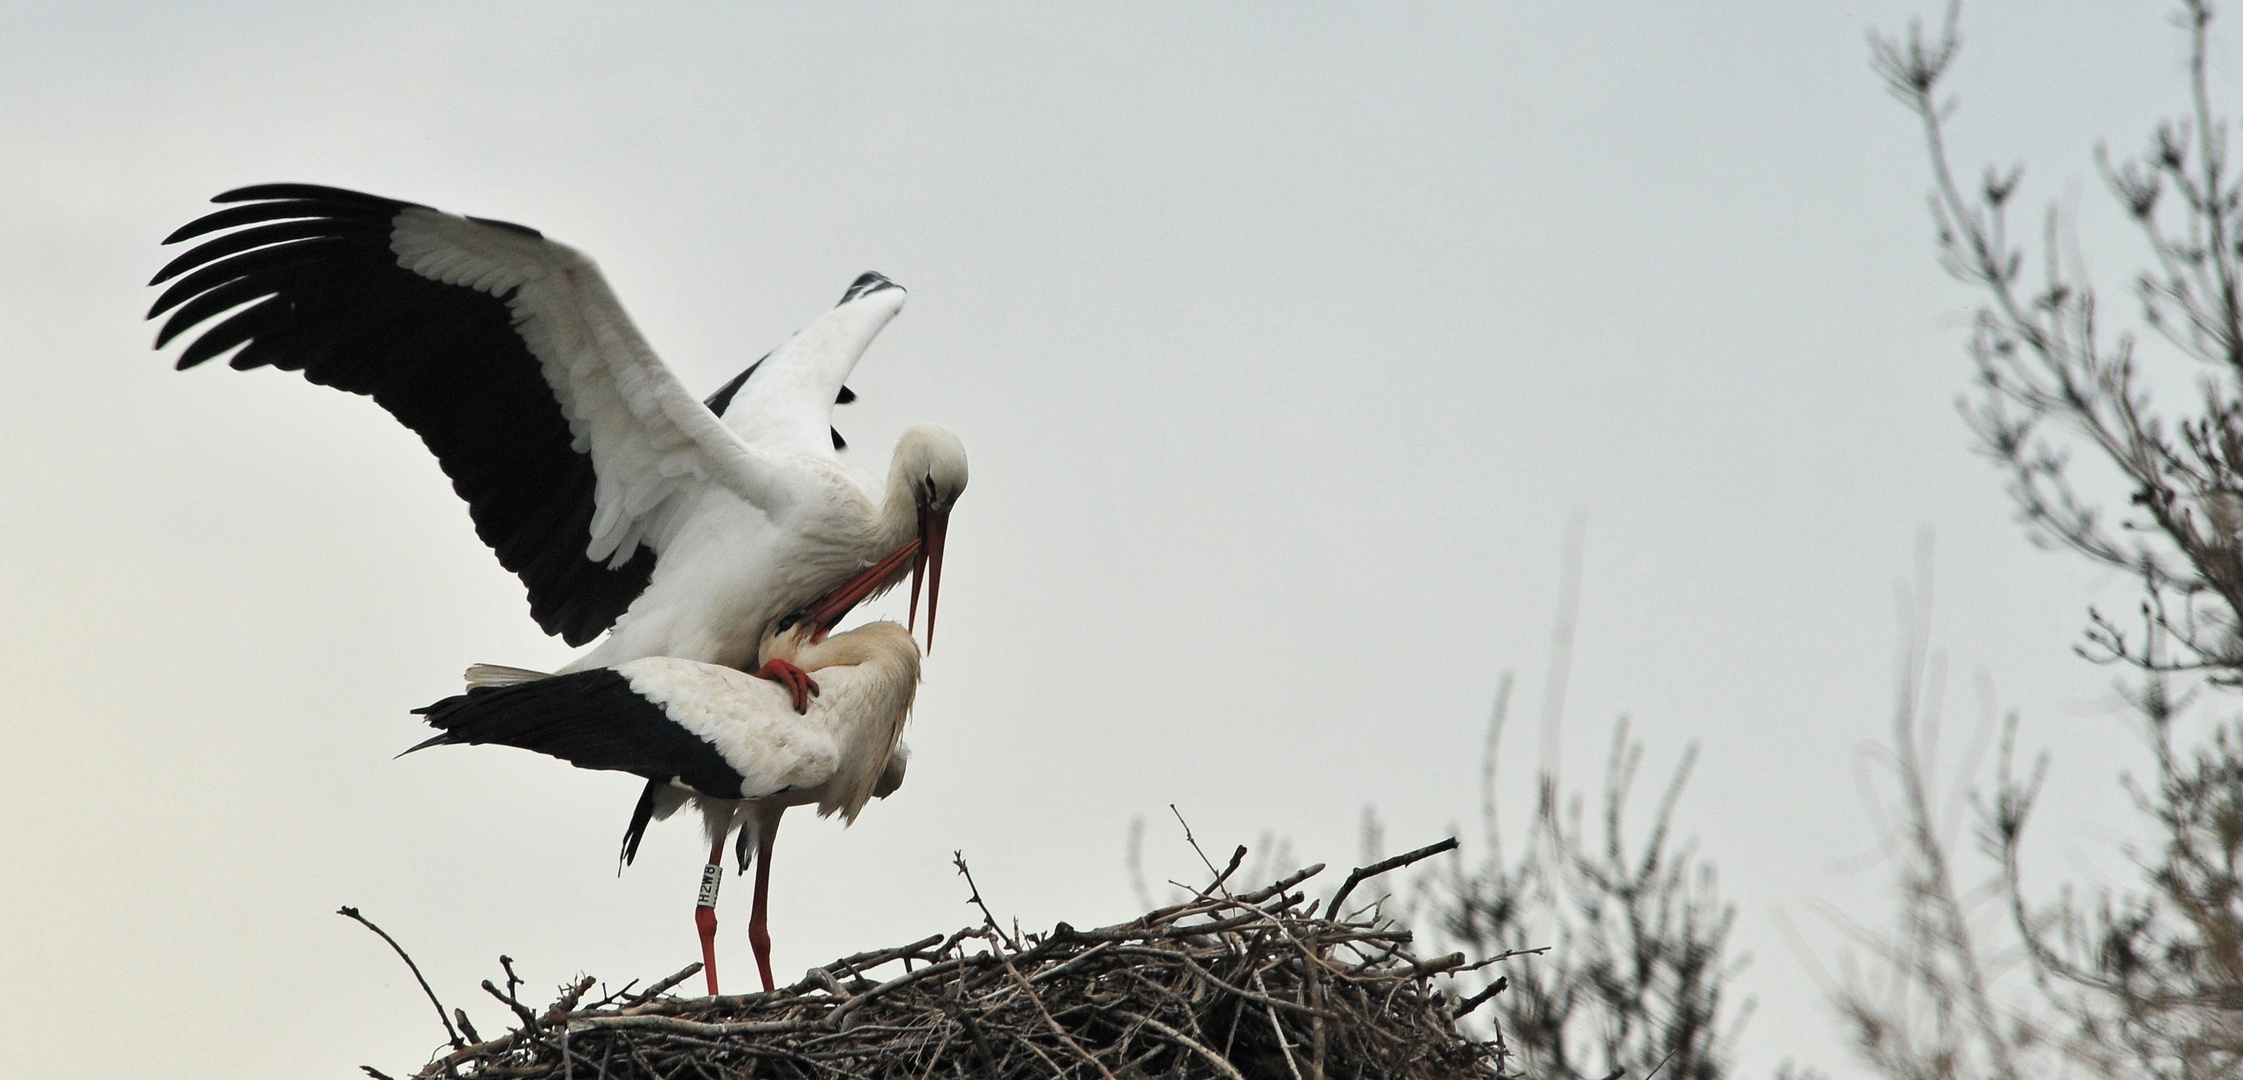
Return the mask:
M 545 633 L 612 626 L 700 485 L 781 498 L 769 456 L 686 393 L 599 267 L 536 229 L 312 184 L 213 202 L 233 207 L 164 240 L 206 236 L 150 283 L 170 281 L 157 348 L 211 323 L 179 368 L 233 350 L 370 395 L 437 456 Z

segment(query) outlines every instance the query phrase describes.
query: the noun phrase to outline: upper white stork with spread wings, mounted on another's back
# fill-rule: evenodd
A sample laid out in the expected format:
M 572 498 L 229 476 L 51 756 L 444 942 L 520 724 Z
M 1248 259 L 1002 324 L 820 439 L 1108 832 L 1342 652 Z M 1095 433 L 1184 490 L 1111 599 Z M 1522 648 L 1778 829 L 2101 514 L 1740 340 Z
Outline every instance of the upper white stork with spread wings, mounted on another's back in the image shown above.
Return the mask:
M 913 624 L 926 579 L 933 644 L 964 447 L 913 427 L 881 485 L 839 460 L 832 429 L 855 397 L 843 379 L 904 305 L 893 281 L 859 276 L 698 402 L 599 267 L 536 229 L 314 184 L 213 202 L 233 207 L 164 240 L 206 238 L 150 281 L 170 281 L 148 312 L 170 312 L 157 348 L 224 314 L 179 368 L 231 350 L 236 368 L 370 395 L 419 433 L 538 626 L 570 644 L 612 629 L 565 671 L 745 667 L 783 620 L 830 626 L 906 568 Z

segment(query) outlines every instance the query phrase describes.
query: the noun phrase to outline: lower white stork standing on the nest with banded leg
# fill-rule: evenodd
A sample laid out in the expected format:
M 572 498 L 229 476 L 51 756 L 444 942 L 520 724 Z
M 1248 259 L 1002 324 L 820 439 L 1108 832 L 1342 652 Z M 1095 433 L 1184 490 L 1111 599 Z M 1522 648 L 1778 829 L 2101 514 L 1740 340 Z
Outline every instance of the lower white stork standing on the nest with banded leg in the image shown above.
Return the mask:
M 785 658 L 801 683 L 781 687 L 733 667 L 648 656 L 561 676 L 478 665 L 469 692 L 415 710 L 444 734 L 415 745 L 505 743 L 579 768 L 648 779 L 624 838 L 637 855 L 648 820 L 693 804 L 709 833 L 693 925 L 702 972 L 716 995 L 716 894 L 724 838 L 738 829 L 738 860 L 756 867 L 747 941 L 763 988 L 772 983 L 772 840 L 787 806 L 816 804 L 819 817 L 857 822 L 868 799 L 904 781 L 911 750 L 899 741 L 920 683 L 920 647 L 895 622 L 873 622 L 821 638 L 796 626 L 767 640 L 765 658 Z M 814 701 L 812 701 L 814 698 Z M 413 750 L 406 750 L 408 754 Z

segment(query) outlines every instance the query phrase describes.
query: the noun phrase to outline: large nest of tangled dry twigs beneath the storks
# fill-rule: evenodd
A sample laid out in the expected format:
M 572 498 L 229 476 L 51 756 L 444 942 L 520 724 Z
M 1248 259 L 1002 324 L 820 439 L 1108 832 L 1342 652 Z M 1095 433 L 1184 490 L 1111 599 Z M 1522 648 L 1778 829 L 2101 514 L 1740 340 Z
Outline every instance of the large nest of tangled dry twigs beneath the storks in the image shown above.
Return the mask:
M 1447 846 L 1357 869 L 1330 909 L 1357 880 Z M 505 990 L 482 986 L 520 1026 L 482 1040 L 453 1013 L 464 1031 L 415 1080 L 1516 1076 L 1501 1035 L 1458 1031 L 1503 981 L 1462 1001 L 1433 988 L 1501 957 L 1418 959 L 1375 905 L 1319 918 L 1294 887 L 1321 864 L 1229 894 L 1238 855 L 1189 903 L 1128 923 L 1021 934 L 985 905 L 978 927 L 843 957 L 772 992 L 668 997 L 695 963 L 592 1004 L 583 977 L 538 1013 L 507 965 Z

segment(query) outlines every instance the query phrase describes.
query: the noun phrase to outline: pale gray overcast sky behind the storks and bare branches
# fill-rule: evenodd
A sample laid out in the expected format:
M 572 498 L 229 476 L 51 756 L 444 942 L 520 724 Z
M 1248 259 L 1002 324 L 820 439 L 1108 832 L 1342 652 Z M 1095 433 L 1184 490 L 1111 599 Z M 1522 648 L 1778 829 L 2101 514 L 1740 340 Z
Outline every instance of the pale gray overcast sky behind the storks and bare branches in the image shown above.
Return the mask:
M 2126 876 L 2140 757 L 2068 651 L 2122 582 L 2023 541 L 1951 406 L 1969 296 L 1862 38 L 1922 9 L 0 7 L 0 970 L 36 990 L 0 1044 L 61 1078 L 417 1067 L 440 1033 L 345 903 L 484 1028 L 500 952 L 538 988 L 695 959 L 698 833 L 615 876 L 637 779 L 390 759 L 464 665 L 570 656 L 419 442 L 148 350 L 155 242 L 303 180 L 594 254 L 695 391 L 857 272 L 911 287 L 841 431 L 884 469 L 942 422 L 973 487 L 911 784 L 846 833 L 790 815 L 783 972 L 962 925 L 953 849 L 1025 925 L 1126 918 L 1130 820 L 1155 880 L 1196 873 L 1171 802 L 1209 849 L 1341 867 L 1366 804 L 1391 849 L 1469 826 L 1503 671 L 1523 808 L 1579 510 L 1563 770 L 1622 712 L 1651 779 L 1702 745 L 1682 824 L 1754 954 L 1745 1073 L 1857 1076 L 1812 963 L 1826 912 L 1889 907 L 1842 862 L 1920 530 L 1951 714 L 1983 669 L 2059 752 L 2050 878 Z M 2156 4 L 2032 9 L 1967 11 L 1958 155 L 2032 162 L 2095 245 L 2093 144 L 2178 101 L 2182 43 Z

